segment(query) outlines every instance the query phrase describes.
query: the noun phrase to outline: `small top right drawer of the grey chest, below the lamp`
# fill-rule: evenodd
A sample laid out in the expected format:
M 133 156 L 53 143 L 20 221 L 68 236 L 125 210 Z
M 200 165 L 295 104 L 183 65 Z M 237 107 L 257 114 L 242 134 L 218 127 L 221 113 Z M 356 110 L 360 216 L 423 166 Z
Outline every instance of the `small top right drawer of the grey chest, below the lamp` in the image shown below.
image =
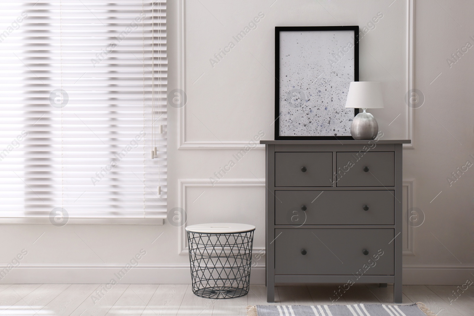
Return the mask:
M 394 152 L 336 153 L 337 187 L 393 187 Z

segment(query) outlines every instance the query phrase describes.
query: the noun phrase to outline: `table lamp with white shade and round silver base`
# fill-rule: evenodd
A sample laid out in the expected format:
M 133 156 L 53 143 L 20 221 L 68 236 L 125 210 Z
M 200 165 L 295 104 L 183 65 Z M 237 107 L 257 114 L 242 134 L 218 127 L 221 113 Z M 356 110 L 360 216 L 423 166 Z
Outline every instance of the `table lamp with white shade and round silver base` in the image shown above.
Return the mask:
M 354 139 L 374 139 L 379 131 L 375 117 L 365 112 L 367 108 L 383 108 L 380 82 L 353 81 L 347 92 L 346 108 L 362 108 L 364 112 L 354 117 L 351 135 Z

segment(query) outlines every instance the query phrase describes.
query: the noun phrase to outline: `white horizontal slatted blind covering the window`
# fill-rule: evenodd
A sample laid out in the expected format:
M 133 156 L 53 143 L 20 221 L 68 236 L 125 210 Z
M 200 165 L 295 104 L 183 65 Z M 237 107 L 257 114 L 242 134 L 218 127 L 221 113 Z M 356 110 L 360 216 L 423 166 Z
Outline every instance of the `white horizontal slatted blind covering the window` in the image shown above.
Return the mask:
M 166 217 L 166 0 L 0 7 L 0 217 Z

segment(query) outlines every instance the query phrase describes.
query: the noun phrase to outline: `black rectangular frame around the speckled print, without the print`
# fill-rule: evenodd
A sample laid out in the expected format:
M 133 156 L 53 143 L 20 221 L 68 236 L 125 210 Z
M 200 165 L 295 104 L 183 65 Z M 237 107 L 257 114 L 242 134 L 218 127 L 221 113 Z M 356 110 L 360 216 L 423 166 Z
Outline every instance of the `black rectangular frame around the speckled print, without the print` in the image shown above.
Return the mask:
M 359 81 L 359 26 L 275 27 L 275 140 L 353 140 L 352 136 L 280 136 L 280 32 L 354 31 L 354 81 Z M 354 109 L 354 116 L 359 109 Z

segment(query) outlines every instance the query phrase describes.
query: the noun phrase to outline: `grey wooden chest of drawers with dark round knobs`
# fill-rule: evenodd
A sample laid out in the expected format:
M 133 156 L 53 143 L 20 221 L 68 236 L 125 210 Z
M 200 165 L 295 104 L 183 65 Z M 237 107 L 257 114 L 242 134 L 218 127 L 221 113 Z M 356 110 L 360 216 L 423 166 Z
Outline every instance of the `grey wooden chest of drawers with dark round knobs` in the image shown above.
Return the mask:
M 402 144 L 270 140 L 266 145 L 266 285 L 393 283 L 401 303 Z

